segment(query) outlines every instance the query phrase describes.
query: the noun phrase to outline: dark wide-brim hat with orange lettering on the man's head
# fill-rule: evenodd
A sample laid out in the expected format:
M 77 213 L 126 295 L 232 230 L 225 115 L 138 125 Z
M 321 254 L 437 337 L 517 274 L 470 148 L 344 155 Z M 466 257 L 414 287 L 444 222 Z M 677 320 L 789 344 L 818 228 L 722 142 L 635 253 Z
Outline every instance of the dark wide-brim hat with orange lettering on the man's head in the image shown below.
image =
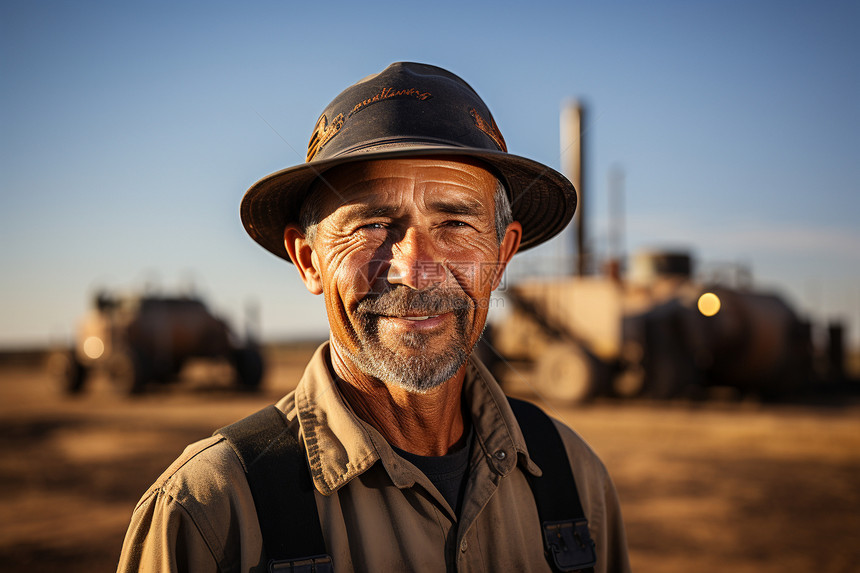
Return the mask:
M 308 190 L 325 171 L 433 156 L 479 160 L 502 180 L 513 218 L 523 226 L 520 251 L 557 235 L 576 210 L 570 180 L 507 152 L 490 110 L 469 84 L 437 66 L 398 62 L 346 88 L 325 108 L 305 163 L 252 185 L 242 199 L 242 224 L 257 243 L 289 261 L 284 228 L 298 223 Z

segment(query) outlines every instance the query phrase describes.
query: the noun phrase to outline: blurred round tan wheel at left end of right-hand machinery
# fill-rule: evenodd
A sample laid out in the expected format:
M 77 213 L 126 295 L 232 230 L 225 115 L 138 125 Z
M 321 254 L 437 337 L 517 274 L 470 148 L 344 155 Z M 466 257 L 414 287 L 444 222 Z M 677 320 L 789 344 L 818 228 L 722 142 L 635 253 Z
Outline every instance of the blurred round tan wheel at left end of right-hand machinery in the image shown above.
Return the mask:
M 599 360 L 578 346 L 556 343 L 538 358 L 534 384 L 550 400 L 581 404 L 602 393 L 603 371 Z

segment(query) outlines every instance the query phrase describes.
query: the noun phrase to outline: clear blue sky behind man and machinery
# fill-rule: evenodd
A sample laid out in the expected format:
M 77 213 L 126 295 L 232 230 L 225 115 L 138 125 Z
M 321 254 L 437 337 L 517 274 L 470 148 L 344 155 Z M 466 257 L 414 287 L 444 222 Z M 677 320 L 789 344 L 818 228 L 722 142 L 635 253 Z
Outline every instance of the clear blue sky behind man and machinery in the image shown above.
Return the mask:
M 322 108 L 398 60 L 441 65 L 510 151 L 560 168 L 588 105 L 587 207 L 607 244 L 743 263 L 860 330 L 856 2 L 3 2 L 0 346 L 67 339 L 95 288 L 193 282 L 267 338 L 325 332 L 322 301 L 257 247 L 244 191 L 302 161 Z M 526 257 L 570 251 L 562 236 Z

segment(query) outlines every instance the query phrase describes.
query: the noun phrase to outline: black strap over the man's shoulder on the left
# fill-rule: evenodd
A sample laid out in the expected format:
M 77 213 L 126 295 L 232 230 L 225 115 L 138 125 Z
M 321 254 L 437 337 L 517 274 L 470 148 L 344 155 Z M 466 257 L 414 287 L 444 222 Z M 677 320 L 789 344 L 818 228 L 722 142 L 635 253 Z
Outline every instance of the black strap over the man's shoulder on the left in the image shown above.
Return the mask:
M 305 450 L 283 413 L 267 406 L 215 433 L 242 462 L 269 571 L 331 572 Z

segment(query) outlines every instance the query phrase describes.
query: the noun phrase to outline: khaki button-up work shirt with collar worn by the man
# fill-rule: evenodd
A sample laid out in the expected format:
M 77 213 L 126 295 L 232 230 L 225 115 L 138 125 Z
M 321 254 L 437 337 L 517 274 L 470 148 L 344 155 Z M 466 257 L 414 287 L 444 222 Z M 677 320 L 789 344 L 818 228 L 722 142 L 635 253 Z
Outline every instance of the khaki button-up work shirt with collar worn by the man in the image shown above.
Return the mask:
M 414 465 L 359 419 L 332 379 L 328 343 L 277 403 L 307 449 L 334 570 L 549 571 L 526 473 L 538 475 L 516 418 L 484 366 L 470 359 L 463 397 L 475 442 L 460 515 Z M 629 571 L 624 528 L 606 468 L 573 430 L 563 437 L 596 572 Z M 302 519 L 302 516 L 285 516 Z M 119 571 L 265 571 L 254 500 L 238 457 L 213 436 L 185 452 L 132 515 Z

